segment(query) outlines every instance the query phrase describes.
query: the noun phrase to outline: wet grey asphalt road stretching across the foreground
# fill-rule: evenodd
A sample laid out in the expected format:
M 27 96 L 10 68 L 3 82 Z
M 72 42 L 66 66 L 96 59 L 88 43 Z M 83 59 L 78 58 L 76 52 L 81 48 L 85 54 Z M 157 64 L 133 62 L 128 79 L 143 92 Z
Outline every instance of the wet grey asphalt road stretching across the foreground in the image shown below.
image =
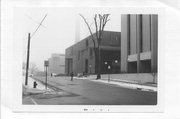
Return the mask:
M 44 77 L 36 77 L 44 82 Z M 49 77 L 54 92 L 23 97 L 23 104 L 39 105 L 156 105 L 157 93 L 123 88 L 90 80 Z

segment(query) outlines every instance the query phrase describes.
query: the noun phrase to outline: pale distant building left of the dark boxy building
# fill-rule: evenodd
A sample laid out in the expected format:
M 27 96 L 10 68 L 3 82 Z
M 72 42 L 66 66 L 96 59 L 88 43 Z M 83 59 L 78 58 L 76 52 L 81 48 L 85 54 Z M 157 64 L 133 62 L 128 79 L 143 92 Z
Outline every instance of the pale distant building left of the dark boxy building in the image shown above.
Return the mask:
M 52 54 L 48 59 L 48 75 L 53 74 L 65 74 L 65 55 L 64 54 Z

